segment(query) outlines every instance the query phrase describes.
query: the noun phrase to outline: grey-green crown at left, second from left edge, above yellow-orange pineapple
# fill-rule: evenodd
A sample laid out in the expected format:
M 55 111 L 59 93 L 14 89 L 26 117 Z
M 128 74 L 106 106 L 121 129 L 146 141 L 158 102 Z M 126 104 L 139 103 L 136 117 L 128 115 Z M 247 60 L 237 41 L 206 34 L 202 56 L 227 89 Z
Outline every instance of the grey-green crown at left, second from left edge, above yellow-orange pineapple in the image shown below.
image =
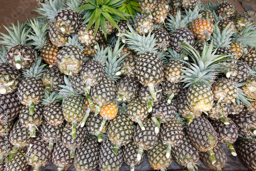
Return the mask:
M 47 44 L 46 35 L 49 25 L 45 24 L 40 27 L 38 18 L 29 19 L 28 21 L 32 28 L 32 31 L 30 31 L 31 35 L 28 35 L 28 40 L 32 40 L 31 45 L 35 47 L 35 50 L 41 50 Z

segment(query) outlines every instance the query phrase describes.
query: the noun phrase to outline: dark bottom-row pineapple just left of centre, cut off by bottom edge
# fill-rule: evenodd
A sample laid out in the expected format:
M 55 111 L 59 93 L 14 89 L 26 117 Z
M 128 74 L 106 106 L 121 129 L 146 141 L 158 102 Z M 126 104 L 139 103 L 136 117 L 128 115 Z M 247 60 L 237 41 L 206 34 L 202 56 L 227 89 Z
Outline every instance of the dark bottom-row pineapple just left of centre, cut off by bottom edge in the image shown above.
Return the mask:
M 123 162 L 122 149 L 117 154 L 113 151 L 114 145 L 110 140 L 104 140 L 99 148 L 99 169 L 101 171 L 118 171 Z

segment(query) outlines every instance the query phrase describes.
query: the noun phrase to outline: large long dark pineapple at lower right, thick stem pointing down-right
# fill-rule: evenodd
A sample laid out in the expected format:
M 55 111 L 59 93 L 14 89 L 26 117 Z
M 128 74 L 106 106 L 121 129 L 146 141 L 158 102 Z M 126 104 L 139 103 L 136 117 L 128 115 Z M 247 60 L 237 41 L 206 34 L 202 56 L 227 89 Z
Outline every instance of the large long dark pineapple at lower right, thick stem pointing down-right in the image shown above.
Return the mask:
M 212 164 L 216 163 L 213 148 L 218 143 L 218 137 L 210 122 L 203 116 L 197 117 L 187 125 L 186 133 L 191 143 L 200 152 L 207 152 Z

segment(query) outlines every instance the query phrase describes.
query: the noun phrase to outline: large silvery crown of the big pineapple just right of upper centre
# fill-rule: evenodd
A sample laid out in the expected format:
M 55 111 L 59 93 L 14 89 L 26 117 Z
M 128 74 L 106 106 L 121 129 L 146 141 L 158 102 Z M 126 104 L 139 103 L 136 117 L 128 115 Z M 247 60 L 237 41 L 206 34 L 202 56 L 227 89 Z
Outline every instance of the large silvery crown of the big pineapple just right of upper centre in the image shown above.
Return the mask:
M 127 23 L 127 26 L 130 32 L 122 33 L 125 37 L 125 42 L 129 46 L 129 49 L 132 49 L 137 52 L 138 55 L 145 52 L 158 53 L 156 48 L 156 39 L 154 34 L 148 33 L 147 36 L 139 35 L 136 31 L 133 30 L 130 24 Z

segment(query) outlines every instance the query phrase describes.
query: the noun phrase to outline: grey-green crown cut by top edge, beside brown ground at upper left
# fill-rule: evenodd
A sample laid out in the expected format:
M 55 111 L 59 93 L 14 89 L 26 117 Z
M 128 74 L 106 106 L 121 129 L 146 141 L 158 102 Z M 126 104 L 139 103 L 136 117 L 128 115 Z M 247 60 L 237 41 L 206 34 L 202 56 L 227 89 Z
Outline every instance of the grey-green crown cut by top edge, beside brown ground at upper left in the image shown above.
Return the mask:
M 54 22 L 54 18 L 56 14 L 65 7 L 65 4 L 66 4 L 65 0 L 59 0 L 59 1 L 46 0 L 45 3 L 38 3 L 40 8 L 37 8 L 34 11 L 46 17 L 47 19 L 49 19 L 49 22 L 52 23 Z

